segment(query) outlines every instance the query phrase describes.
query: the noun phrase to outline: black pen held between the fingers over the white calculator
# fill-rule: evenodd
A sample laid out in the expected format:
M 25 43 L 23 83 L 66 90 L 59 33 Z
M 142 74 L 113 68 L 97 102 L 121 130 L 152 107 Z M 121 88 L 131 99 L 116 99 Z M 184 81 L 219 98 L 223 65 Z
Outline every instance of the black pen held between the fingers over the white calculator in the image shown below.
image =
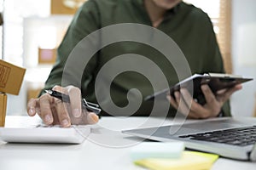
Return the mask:
M 44 90 L 47 94 L 57 98 L 57 99 L 61 99 L 61 101 L 65 102 L 65 103 L 70 103 L 70 99 L 69 96 L 67 94 L 61 94 L 60 92 L 57 92 L 55 90 Z M 94 103 L 90 103 L 87 102 L 86 99 L 82 99 L 81 100 L 82 106 L 84 109 L 86 109 L 87 111 L 93 111 L 96 113 L 96 115 L 98 115 L 102 110 L 99 108 L 99 105 L 94 104 Z

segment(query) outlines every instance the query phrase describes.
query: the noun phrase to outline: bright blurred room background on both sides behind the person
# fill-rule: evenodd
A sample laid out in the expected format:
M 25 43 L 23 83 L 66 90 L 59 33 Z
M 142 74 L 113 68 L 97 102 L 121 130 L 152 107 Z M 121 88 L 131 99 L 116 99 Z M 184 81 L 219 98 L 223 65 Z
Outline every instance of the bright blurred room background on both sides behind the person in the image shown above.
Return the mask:
M 0 59 L 26 68 L 20 94 L 8 95 L 7 115 L 25 115 L 55 61 L 55 49 L 85 0 L 0 0 Z M 256 1 L 183 0 L 212 19 L 228 73 L 253 77 L 230 99 L 233 116 L 256 116 Z M 1 21 L 1 20 L 0 20 Z

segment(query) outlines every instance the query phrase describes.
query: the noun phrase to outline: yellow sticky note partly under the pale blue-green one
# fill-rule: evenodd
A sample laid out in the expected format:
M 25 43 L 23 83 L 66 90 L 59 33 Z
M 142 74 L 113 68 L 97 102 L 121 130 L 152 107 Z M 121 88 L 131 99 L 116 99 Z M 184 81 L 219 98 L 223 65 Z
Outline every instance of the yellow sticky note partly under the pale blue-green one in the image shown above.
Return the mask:
M 157 170 L 201 170 L 210 169 L 218 155 L 201 153 L 196 151 L 183 151 L 183 156 L 179 159 L 142 159 L 134 161 L 136 165 Z

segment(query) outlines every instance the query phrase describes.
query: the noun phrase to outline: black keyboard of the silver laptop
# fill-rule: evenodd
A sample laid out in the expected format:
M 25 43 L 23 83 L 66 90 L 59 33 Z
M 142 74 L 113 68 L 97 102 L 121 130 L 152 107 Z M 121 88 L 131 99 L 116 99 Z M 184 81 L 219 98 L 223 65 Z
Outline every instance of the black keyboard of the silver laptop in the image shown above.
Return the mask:
M 179 136 L 179 138 L 247 146 L 256 143 L 256 126 L 230 128 L 207 133 L 187 134 Z

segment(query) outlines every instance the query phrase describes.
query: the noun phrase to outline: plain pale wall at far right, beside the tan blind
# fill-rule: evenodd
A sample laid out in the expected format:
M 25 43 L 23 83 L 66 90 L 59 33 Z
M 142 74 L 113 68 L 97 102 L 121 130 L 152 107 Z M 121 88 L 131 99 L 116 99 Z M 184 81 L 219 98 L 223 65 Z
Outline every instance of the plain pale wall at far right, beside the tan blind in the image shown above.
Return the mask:
M 232 57 L 233 72 L 253 77 L 231 97 L 233 116 L 252 116 L 256 99 L 256 1 L 232 1 Z M 248 27 L 249 26 L 249 27 Z M 253 26 L 255 29 L 251 29 Z M 241 30 L 243 32 L 241 33 Z M 247 36 L 249 35 L 249 36 Z M 253 38 L 254 37 L 254 38 Z M 254 42 L 252 40 L 255 40 Z

